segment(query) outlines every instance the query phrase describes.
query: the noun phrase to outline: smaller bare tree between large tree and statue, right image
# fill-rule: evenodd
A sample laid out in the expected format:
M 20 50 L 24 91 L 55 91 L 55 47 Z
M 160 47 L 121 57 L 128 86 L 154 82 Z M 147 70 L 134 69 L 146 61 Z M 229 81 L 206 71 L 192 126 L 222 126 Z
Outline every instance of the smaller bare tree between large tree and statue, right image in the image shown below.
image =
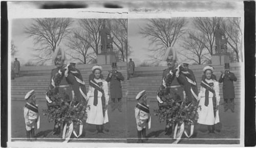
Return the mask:
M 209 53 L 205 48 L 206 39 L 200 32 L 189 31 L 183 37 L 181 47 L 182 51 L 179 52 L 185 57 L 185 61 L 193 61 L 193 63 L 200 65 L 210 60 Z

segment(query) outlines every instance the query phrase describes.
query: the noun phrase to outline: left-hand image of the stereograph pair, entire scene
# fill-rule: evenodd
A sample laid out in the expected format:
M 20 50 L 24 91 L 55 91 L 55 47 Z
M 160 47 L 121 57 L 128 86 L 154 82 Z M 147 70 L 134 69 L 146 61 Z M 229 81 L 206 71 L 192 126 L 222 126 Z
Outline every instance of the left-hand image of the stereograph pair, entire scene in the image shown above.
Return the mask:
M 9 19 L 11 141 L 126 142 L 127 19 Z

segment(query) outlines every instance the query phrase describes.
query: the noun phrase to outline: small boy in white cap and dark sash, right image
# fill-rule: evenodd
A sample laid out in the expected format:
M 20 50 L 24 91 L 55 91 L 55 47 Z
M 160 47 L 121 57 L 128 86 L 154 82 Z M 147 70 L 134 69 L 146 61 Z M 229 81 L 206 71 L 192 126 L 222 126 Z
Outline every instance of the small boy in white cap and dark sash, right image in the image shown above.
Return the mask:
M 145 142 L 146 140 L 146 124 L 148 123 L 148 129 L 151 128 L 151 114 L 149 105 L 146 104 L 147 97 L 146 91 L 142 90 L 136 96 L 138 104 L 135 107 L 135 118 L 137 123 L 137 134 L 138 141 L 137 143 Z M 143 140 L 141 140 L 141 135 Z

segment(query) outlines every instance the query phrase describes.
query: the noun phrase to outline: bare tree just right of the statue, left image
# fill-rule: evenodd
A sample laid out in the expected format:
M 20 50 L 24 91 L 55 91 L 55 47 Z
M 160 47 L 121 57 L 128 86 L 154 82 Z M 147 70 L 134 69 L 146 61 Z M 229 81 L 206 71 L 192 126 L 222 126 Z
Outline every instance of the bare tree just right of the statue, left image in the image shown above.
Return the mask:
M 107 20 L 108 27 L 114 37 L 114 46 L 118 49 L 120 54 L 120 61 L 126 60 L 126 54 L 130 54 L 129 45 L 127 43 L 127 19 L 109 19 Z M 126 53 L 126 50 L 127 53 Z

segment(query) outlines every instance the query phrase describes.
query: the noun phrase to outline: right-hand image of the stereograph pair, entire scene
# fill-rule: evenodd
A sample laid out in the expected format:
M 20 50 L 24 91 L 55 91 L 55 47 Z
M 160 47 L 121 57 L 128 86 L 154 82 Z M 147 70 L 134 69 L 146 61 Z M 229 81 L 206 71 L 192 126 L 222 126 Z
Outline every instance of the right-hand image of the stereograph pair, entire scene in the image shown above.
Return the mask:
M 128 19 L 128 143 L 241 144 L 242 23 Z

